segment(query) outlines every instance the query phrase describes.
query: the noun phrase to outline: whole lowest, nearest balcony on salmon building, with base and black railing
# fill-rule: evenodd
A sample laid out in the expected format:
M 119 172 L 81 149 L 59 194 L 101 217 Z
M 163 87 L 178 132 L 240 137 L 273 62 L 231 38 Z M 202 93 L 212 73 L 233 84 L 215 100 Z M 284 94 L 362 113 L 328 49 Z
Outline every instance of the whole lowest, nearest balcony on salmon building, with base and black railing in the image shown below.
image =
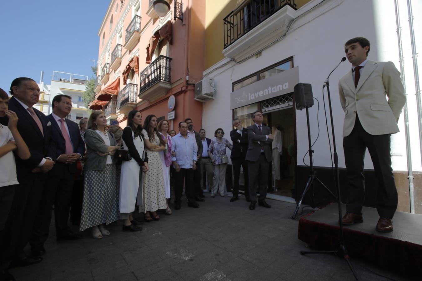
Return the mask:
M 167 94 L 171 88 L 172 59 L 160 55 L 140 73 L 139 98 L 154 101 Z

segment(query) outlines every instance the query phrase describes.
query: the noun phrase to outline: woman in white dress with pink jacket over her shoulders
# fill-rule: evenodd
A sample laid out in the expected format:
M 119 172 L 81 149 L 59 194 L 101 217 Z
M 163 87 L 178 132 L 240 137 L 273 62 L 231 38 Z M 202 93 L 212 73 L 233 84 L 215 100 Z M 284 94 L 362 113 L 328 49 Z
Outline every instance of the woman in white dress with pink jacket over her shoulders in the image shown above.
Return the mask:
M 162 173 L 164 175 L 164 187 L 165 187 L 165 198 L 167 203 L 166 214 L 171 214 L 171 209 L 168 206 L 170 200 L 170 166 L 171 166 L 171 136 L 168 131 L 168 120 L 161 120 L 158 122 L 157 131 L 160 133 L 161 138 L 165 143 L 165 150 L 160 152 L 160 158 L 162 162 Z

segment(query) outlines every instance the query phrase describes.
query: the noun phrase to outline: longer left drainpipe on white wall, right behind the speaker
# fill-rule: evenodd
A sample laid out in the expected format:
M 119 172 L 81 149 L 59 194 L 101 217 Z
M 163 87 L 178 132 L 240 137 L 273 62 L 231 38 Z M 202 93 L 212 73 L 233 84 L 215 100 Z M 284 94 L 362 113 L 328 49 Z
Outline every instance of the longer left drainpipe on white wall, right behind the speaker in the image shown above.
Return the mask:
M 404 94 L 406 96 L 406 103 L 404 104 L 403 113 L 404 113 L 404 131 L 406 136 L 406 160 L 407 160 L 407 171 L 409 179 L 409 195 L 410 195 L 410 212 L 415 213 L 414 206 L 414 190 L 413 190 L 413 169 L 412 169 L 412 156 L 411 156 L 411 147 L 410 147 L 410 132 L 409 132 L 409 115 L 407 111 L 407 93 L 406 93 L 406 83 L 404 77 L 404 59 L 403 59 L 403 45 L 401 43 L 401 26 L 400 26 L 400 15 L 398 11 L 398 0 L 394 0 L 395 5 L 395 14 L 396 14 L 396 27 L 397 27 L 397 40 L 398 40 L 398 52 L 400 58 L 400 73 L 401 73 L 401 82 L 404 87 Z

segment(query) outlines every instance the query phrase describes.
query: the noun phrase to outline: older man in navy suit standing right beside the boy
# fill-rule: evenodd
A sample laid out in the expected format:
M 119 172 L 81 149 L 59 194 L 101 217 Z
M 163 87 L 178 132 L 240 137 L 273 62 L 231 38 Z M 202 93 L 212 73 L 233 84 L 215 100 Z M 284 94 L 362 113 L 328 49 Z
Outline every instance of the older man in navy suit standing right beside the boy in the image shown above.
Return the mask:
M 26 266 L 42 261 L 41 257 L 26 255 L 24 247 L 30 239 L 47 179 L 46 173 L 53 168 L 53 159 L 57 158 L 57 154 L 54 142 L 50 141 L 51 122 L 32 107 L 40 97 L 37 83 L 31 78 L 16 78 L 11 84 L 10 93 L 13 96 L 9 100 L 9 110 L 16 112 L 19 118 L 17 128 L 31 157 L 22 160 L 15 155 L 19 185 L 12 203 L 14 214 L 9 215 L 7 222 L 11 235 L 9 250 L 12 266 Z

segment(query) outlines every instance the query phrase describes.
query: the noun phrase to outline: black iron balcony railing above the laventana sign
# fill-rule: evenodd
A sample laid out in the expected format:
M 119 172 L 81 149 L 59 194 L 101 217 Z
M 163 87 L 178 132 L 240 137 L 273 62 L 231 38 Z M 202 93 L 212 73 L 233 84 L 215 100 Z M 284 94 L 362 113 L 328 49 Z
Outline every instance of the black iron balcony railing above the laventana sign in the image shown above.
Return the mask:
M 295 0 L 249 0 L 243 8 L 229 13 L 223 19 L 224 48 L 286 5 L 296 10 Z

